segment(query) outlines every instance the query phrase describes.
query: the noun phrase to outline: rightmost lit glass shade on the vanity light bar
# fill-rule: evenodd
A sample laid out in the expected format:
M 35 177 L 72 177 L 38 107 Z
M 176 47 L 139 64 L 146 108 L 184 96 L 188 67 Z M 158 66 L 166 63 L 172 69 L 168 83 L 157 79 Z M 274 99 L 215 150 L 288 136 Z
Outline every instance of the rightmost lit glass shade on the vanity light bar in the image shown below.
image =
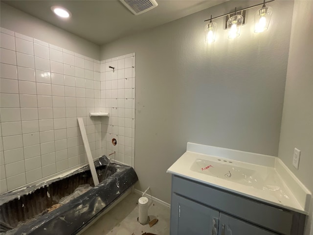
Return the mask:
M 254 15 L 254 32 L 261 33 L 268 29 L 270 18 L 272 17 L 271 7 L 262 7 Z

